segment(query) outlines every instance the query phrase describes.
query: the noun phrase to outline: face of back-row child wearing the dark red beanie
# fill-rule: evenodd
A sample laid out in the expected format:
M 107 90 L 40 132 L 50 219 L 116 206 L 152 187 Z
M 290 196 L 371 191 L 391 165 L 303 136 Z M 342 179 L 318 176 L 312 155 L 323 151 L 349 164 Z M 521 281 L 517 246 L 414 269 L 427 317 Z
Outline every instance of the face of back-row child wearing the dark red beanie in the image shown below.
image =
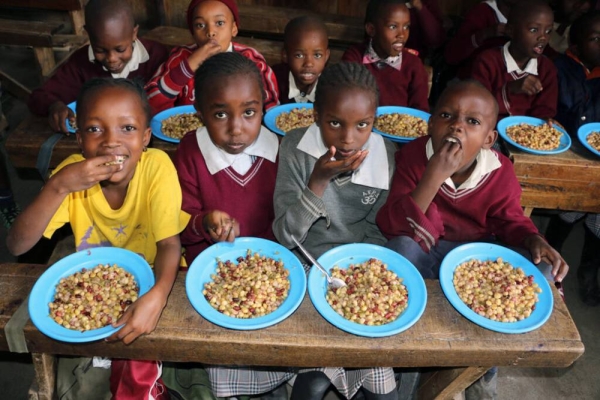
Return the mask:
M 225 51 L 231 38 L 237 35 L 237 25 L 231 10 L 220 1 L 204 1 L 194 10 L 192 19 L 194 41 L 203 46 L 209 40 L 219 43 Z

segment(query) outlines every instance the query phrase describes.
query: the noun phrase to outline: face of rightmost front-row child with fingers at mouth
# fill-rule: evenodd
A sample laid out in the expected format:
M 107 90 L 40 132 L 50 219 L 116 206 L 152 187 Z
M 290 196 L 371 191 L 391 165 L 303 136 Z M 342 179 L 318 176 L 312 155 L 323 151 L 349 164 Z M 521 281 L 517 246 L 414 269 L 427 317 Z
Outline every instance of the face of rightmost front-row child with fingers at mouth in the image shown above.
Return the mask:
M 491 95 L 482 88 L 449 90 L 429 119 L 429 135 L 434 152 L 447 142 L 461 146 L 463 158 L 457 173 L 462 173 L 471 167 L 481 149 L 489 149 L 496 141 L 496 108 Z

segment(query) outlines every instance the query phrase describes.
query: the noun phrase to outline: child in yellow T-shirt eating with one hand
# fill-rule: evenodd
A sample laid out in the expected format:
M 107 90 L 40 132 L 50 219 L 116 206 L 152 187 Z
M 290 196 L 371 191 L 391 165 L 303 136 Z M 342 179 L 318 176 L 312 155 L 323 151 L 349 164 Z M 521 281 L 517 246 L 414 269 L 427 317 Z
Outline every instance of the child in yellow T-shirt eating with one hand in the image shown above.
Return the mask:
M 179 233 L 189 219 L 169 156 L 146 148 L 149 121 L 150 106 L 137 83 L 86 82 L 77 98 L 82 154 L 56 168 L 7 239 L 12 254 L 23 254 L 69 223 L 78 251 L 113 246 L 142 255 L 154 267 L 156 284 L 113 323 L 123 327 L 107 340 L 125 344 L 155 329 L 179 268 Z M 111 368 L 114 397 L 160 395 L 160 362 L 115 359 Z

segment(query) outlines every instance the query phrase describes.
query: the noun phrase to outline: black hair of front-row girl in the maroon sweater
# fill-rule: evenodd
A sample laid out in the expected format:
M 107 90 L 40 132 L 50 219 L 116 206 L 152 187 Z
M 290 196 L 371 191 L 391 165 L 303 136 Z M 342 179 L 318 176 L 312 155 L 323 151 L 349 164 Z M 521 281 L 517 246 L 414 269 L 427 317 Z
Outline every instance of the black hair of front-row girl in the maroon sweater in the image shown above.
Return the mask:
M 258 67 L 252 60 L 235 51 L 218 53 L 208 58 L 200 65 L 194 75 L 194 91 L 196 104 L 199 104 L 206 93 L 206 86 L 233 75 L 249 75 L 255 79 L 260 88 L 262 99 L 265 99 L 265 85 Z

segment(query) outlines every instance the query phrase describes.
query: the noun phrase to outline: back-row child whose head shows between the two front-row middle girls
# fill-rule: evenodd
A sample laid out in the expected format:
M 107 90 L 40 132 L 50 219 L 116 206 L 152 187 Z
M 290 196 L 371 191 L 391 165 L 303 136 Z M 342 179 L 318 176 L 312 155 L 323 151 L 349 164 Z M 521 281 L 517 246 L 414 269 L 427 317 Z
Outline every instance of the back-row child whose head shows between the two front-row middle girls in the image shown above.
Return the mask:
M 279 87 L 279 101 L 313 103 L 319 75 L 329 60 L 327 27 L 315 17 L 297 17 L 285 26 L 283 62 L 273 66 Z

